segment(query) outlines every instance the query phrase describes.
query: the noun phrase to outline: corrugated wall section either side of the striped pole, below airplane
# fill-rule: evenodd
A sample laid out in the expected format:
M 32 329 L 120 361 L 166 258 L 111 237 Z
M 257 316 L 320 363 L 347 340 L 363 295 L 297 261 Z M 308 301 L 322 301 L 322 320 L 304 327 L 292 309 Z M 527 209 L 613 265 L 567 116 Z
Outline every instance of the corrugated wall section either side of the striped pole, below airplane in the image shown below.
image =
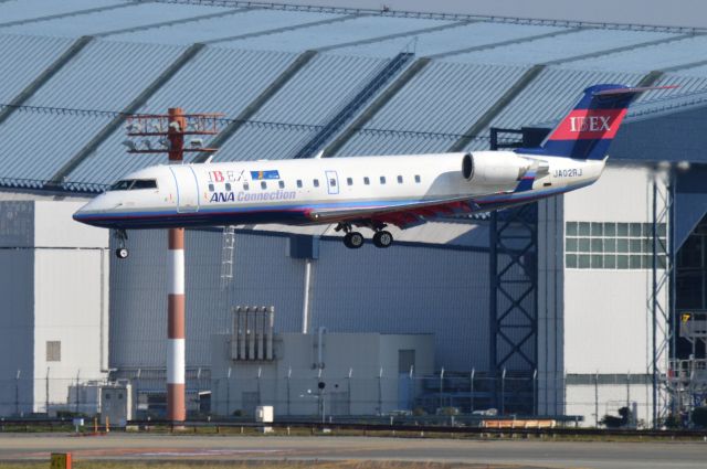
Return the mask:
M 211 334 L 230 331 L 231 307 L 275 306 L 277 331 L 302 321 L 304 260 L 286 256 L 284 236 L 235 235 L 234 279 L 221 289 L 222 235 L 187 232 L 187 364 L 208 365 Z M 113 259 L 110 365 L 165 366 L 167 347 L 167 238 L 163 232 L 130 233 L 130 257 Z

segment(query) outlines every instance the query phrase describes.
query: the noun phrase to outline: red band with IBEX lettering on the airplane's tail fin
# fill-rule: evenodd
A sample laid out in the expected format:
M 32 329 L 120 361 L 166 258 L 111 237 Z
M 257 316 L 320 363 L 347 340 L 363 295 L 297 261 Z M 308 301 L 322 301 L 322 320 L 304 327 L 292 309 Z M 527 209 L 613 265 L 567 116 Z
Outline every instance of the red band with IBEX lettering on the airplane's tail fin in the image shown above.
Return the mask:
M 627 109 L 574 109 L 550 136 L 550 140 L 614 138 Z

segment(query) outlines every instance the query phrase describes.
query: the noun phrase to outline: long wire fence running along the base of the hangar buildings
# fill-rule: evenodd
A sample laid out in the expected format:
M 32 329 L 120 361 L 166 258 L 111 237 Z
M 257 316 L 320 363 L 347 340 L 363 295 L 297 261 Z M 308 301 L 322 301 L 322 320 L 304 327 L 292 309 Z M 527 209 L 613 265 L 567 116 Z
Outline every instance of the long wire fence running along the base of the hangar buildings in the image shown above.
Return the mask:
M 163 418 L 163 370 L 114 373 L 130 386 L 134 418 Z M 647 374 L 566 374 L 557 380 L 531 373 L 444 373 L 416 376 L 357 376 L 354 370 L 303 370 L 284 376 L 258 373 L 212 376 L 189 370 L 187 402 L 190 418 L 251 418 L 258 405 L 272 405 L 279 419 L 347 419 L 451 417 L 468 415 L 567 415 L 599 425 L 605 415 L 625 425 L 650 425 L 652 376 Z M 105 377 L 27 379 L 18 373 L 0 380 L 0 416 L 92 416 L 102 411 Z M 558 395 L 559 401 L 552 398 Z

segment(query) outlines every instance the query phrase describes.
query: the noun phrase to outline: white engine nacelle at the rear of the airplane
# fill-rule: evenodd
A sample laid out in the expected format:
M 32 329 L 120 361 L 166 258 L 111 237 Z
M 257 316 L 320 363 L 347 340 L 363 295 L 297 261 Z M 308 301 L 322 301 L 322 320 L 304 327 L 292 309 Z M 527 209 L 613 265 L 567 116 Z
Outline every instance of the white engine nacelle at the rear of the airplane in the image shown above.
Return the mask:
M 479 185 L 513 189 L 529 168 L 530 161 L 510 151 L 477 151 L 462 160 L 464 179 Z

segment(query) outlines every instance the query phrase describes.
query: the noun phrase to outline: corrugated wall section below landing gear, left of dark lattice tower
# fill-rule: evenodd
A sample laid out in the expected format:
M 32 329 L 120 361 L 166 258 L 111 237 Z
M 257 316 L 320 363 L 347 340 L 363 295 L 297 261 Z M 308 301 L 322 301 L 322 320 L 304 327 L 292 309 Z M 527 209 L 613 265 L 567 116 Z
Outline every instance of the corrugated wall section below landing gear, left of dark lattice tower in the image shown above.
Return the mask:
M 313 264 L 312 330 L 434 333 L 436 367 L 488 365 L 488 254 L 325 242 Z

